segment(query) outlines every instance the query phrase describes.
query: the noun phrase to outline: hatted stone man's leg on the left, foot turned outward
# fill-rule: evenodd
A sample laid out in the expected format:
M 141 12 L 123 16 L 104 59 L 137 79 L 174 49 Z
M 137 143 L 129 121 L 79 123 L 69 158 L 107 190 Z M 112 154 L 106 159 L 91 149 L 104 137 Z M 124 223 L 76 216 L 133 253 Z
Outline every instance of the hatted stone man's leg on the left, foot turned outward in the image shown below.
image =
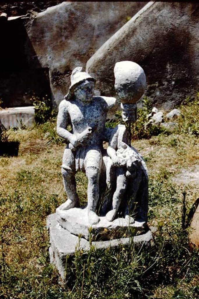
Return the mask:
M 68 210 L 79 205 L 75 182 L 75 159 L 71 149 L 65 149 L 62 159 L 61 173 L 63 176 L 64 189 L 67 201 L 60 205 L 61 210 Z

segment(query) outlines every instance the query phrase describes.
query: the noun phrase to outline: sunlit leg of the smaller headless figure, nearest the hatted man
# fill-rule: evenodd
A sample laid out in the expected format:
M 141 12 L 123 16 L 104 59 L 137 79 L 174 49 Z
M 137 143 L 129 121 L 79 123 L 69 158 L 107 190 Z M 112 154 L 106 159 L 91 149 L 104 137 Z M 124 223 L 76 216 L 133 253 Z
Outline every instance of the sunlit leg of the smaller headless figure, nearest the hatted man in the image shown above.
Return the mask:
M 108 221 L 113 221 L 113 219 L 115 218 L 118 208 L 124 197 L 124 193 L 127 189 L 127 178 L 125 173 L 126 170 L 124 169 L 124 167 L 117 168 L 117 187 L 115 193 L 113 194 L 112 209 L 106 214 L 106 218 Z

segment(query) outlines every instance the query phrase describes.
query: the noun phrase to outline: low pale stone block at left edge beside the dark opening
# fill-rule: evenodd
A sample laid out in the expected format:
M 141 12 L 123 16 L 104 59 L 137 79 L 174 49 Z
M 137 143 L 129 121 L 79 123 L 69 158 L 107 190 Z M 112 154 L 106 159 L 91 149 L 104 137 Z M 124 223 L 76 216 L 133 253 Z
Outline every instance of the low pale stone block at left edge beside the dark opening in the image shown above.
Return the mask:
M 0 121 L 6 128 L 31 128 L 35 125 L 35 107 L 15 107 L 0 110 Z

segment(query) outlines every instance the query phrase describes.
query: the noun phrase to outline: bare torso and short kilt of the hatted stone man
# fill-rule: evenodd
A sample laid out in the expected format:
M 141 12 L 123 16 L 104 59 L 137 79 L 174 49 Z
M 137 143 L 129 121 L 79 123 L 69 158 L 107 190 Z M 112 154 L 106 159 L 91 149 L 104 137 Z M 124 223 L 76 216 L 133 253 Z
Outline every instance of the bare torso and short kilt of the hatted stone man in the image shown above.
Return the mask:
M 75 150 L 67 144 L 62 161 L 62 167 L 72 173 L 78 170 L 85 172 L 87 167 L 101 169 L 102 141 L 104 138 L 107 111 L 115 105 L 114 97 L 95 96 L 88 105 L 83 106 L 75 100 L 63 100 L 59 111 L 65 119 L 65 128 L 70 124 L 72 134 L 80 134 L 88 127 L 92 128 L 91 138 Z

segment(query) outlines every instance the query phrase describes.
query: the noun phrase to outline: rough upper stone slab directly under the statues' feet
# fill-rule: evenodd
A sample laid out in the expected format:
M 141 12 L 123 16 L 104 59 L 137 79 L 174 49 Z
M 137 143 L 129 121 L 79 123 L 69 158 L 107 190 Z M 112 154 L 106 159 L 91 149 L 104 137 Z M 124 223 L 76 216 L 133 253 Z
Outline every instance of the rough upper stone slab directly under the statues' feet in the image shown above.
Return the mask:
M 56 219 L 61 227 L 76 236 L 81 234 L 87 240 L 90 236 L 95 241 L 129 237 L 129 228 L 140 233 L 148 230 L 146 222 L 143 220 L 128 223 L 124 218 L 117 218 L 112 222 L 109 222 L 105 216 L 99 218 L 99 223 L 91 227 L 88 221 L 87 208 L 72 208 L 65 211 L 56 209 Z

